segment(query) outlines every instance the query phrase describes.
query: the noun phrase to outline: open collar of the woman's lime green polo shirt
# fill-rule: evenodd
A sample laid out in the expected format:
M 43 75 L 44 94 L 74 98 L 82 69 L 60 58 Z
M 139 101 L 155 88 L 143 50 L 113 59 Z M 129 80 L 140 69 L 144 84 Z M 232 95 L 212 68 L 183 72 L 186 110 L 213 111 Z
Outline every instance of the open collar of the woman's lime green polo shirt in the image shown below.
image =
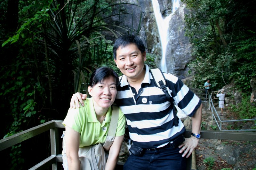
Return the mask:
M 87 106 L 84 106 L 84 107 L 87 107 L 87 120 L 88 120 L 88 122 L 98 122 L 97 117 L 96 117 L 96 113 L 95 113 L 95 110 L 94 110 L 94 107 L 93 107 L 93 99 L 92 98 L 87 98 L 86 102 L 87 102 Z M 111 110 L 112 110 L 112 106 L 108 108 L 107 115 L 105 117 L 105 123 L 108 123 L 111 120 L 111 115 L 112 115 Z

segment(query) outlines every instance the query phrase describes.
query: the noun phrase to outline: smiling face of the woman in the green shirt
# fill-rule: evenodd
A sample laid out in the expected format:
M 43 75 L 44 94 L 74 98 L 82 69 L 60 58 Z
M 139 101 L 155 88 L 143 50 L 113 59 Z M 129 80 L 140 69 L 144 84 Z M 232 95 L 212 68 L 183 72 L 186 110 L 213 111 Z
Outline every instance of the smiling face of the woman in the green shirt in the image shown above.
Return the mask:
M 113 76 L 104 78 L 93 87 L 89 86 L 88 91 L 94 100 L 94 107 L 108 108 L 116 99 L 116 80 Z

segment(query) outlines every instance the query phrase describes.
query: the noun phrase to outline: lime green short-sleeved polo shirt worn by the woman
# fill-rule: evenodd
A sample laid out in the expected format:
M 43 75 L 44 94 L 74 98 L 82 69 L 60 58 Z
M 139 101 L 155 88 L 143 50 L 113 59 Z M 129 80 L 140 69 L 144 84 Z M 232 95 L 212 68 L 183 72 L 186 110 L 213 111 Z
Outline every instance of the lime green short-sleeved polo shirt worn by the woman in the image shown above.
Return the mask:
M 68 114 L 63 121 L 64 126 L 68 126 L 80 133 L 80 145 L 90 146 L 97 143 L 104 143 L 108 135 L 112 115 L 112 107 L 108 108 L 105 121 L 100 124 L 97 120 L 92 98 L 84 100 L 84 107 L 69 108 Z M 116 136 L 122 136 L 125 132 L 125 117 L 119 109 L 119 118 L 116 129 Z

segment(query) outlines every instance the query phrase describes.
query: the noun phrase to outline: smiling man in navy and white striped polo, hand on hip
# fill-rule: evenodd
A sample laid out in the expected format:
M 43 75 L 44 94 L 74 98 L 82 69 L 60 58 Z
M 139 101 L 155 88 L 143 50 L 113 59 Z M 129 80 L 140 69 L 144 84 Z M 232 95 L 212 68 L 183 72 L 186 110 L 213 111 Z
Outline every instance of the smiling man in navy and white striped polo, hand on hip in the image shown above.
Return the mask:
M 200 138 L 202 104 L 181 80 L 164 73 L 166 87 L 182 114 L 192 118 L 191 137 L 185 138 L 185 127 L 174 125 L 172 102 L 155 84 L 146 61 L 143 42 L 134 35 L 123 35 L 113 47 L 114 60 L 124 74 L 117 86 L 115 103 L 123 111 L 133 146 L 124 169 L 185 169 Z M 86 95 L 73 95 L 70 107 L 80 107 Z M 76 103 L 76 104 L 75 104 Z M 134 147 L 135 146 L 135 147 Z

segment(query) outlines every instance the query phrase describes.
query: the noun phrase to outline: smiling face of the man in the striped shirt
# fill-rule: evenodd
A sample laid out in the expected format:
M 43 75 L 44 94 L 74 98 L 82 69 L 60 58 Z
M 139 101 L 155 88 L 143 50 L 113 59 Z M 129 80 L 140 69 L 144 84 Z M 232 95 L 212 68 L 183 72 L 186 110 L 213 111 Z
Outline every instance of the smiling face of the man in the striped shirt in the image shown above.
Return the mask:
M 116 50 L 116 66 L 128 80 L 144 78 L 144 61 L 146 61 L 146 52 L 141 53 L 135 44 L 120 46 Z

